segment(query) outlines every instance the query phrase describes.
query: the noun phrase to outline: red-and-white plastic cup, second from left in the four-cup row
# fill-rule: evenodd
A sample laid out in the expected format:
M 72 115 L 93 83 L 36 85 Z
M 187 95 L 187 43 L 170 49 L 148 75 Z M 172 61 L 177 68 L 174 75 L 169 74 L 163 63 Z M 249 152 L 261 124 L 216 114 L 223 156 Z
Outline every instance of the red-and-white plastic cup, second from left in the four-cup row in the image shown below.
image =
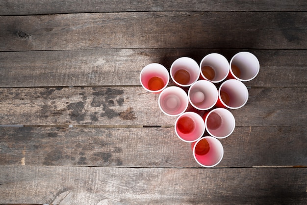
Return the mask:
M 180 87 L 189 87 L 199 79 L 200 71 L 197 62 L 188 57 L 176 59 L 170 69 L 171 78 Z

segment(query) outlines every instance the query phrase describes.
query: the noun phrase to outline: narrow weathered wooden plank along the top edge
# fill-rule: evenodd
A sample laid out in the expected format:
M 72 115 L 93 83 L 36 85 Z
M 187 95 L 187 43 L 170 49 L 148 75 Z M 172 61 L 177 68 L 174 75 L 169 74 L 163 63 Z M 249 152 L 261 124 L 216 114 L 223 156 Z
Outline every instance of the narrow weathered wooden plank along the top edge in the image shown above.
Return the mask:
M 302 0 L 154 0 L 144 4 L 142 0 L 103 0 L 83 3 L 79 0 L 16 0 L 0 1 L 0 15 L 31 15 L 88 12 L 126 11 L 306 11 L 307 4 Z

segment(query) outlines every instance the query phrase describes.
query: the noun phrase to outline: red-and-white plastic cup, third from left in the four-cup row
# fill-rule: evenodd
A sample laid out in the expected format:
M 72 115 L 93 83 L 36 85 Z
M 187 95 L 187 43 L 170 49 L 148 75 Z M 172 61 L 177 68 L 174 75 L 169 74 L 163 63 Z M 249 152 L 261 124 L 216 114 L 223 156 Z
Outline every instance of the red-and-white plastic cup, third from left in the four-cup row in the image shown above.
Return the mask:
M 206 55 L 200 63 L 201 77 L 212 83 L 219 83 L 226 79 L 229 73 L 229 62 L 221 54 Z

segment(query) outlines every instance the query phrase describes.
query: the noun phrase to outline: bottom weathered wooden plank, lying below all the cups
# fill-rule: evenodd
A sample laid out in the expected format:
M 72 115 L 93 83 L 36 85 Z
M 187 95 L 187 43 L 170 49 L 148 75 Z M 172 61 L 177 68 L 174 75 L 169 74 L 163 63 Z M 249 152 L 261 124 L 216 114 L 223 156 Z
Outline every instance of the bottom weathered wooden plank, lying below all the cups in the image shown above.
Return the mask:
M 307 202 L 307 168 L 0 166 L 0 203 L 258 205 Z

